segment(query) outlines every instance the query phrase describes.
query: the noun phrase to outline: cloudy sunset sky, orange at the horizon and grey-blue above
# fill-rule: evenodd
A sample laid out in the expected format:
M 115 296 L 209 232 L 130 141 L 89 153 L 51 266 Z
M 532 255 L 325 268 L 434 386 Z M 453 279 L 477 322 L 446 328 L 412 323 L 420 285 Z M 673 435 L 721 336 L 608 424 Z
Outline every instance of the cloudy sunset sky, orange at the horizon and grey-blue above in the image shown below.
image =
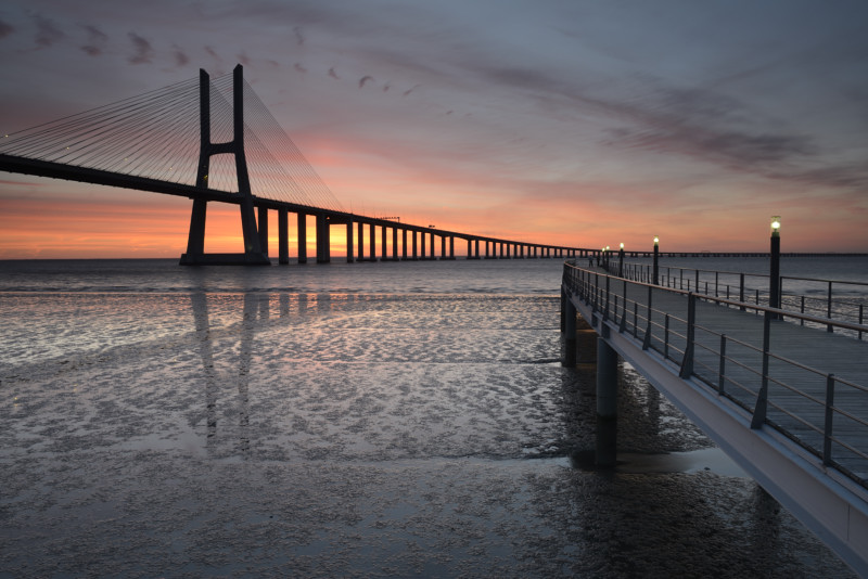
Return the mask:
M 237 63 L 357 214 L 664 250 L 781 215 L 784 252 L 868 252 L 864 0 L 8 0 L 0 133 Z M 0 172 L 0 259 L 177 257 L 190 205 Z

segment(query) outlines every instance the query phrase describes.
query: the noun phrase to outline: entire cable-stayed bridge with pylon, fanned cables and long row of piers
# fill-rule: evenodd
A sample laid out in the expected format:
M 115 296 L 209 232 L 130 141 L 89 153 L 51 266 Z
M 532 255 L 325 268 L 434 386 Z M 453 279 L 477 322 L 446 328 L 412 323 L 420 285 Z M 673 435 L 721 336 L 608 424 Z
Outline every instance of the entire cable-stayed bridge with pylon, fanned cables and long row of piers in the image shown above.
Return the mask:
M 316 217 L 318 263 L 330 261 L 329 231 L 342 224 L 349 262 L 378 259 L 376 228 L 384 260 L 435 259 L 437 237 L 441 259 L 455 259 L 456 239 L 465 242 L 469 259 L 595 253 L 345 211 L 244 80 L 240 64 L 214 80 L 200 70 L 197 82 L 179 82 L 7 134 L 0 141 L 0 170 L 189 197 L 193 208 L 182 265 L 269 265 L 269 210 L 278 213 L 280 263 L 290 260 L 290 213 L 297 216 L 299 263 L 307 262 L 307 216 Z M 243 253 L 205 253 L 209 202 L 240 206 Z

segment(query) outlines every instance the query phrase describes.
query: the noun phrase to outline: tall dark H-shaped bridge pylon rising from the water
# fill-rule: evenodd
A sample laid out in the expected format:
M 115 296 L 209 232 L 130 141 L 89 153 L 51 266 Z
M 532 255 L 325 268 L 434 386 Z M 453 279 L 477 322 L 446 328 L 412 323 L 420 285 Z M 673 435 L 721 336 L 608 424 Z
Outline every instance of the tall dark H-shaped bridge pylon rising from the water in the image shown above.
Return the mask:
M 251 190 L 247 159 L 244 155 L 244 76 L 239 64 L 232 70 L 232 140 L 225 143 L 210 141 L 210 78 L 208 74 L 199 70 L 199 103 L 200 103 L 200 150 L 199 168 L 196 170 L 196 186 L 208 188 L 208 170 L 210 157 L 230 153 L 235 157 L 235 178 L 241 206 L 241 229 L 244 236 L 243 254 L 206 254 L 205 253 L 205 216 L 207 201 L 193 200 L 193 209 L 190 215 L 190 234 L 187 240 L 187 253 L 181 255 L 182 266 L 200 265 L 243 265 L 269 266 L 271 261 L 263 252 L 256 228 L 256 215 L 253 206 L 253 191 Z

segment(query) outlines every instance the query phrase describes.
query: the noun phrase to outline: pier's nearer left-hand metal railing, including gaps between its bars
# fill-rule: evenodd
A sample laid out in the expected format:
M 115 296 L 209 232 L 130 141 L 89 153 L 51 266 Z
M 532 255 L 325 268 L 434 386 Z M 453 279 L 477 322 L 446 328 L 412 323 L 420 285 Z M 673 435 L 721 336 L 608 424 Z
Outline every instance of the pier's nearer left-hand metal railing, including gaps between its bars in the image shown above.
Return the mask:
M 868 348 L 855 339 L 867 326 L 786 305 L 775 309 L 628 280 L 573 262 L 564 265 L 563 287 L 643 350 L 676 364 L 681 378 L 745 409 L 752 427 L 778 429 L 825 465 L 868 487 L 868 371 L 861 370 Z M 822 330 L 828 326 L 832 330 Z M 834 356 L 824 355 L 822 342 Z M 840 360 L 852 363 L 830 368 Z M 835 370 L 842 371 L 837 375 Z

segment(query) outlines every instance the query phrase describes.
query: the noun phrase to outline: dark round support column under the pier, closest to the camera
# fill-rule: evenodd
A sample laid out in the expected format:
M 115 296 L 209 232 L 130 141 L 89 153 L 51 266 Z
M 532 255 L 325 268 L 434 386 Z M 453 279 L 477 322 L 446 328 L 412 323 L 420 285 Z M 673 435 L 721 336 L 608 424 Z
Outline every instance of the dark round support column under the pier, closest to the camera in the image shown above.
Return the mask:
M 597 338 L 597 466 L 617 462 L 617 352 Z

